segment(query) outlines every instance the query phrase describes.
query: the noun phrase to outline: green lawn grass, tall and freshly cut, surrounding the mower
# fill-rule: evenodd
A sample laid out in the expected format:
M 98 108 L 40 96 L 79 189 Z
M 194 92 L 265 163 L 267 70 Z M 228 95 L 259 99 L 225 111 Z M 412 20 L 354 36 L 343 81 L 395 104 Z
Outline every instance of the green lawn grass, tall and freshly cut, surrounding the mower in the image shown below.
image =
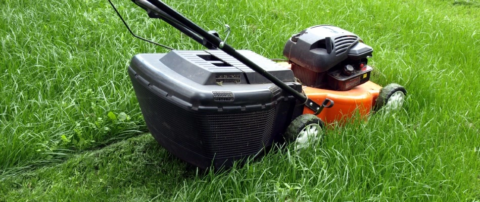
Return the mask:
M 478 1 L 166 1 L 229 43 L 280 58 L 316 24 L 374 48 L 372 80 L 408 90 L 405 110 L 327 131 L 299 155 L 276 150 L 198 173 L 148 134 L 127 77 L 137 53 L 107 1 L 0 0 L 0 201 L 479 201 Z M 116 1 L 140 36 L 199 49 Z

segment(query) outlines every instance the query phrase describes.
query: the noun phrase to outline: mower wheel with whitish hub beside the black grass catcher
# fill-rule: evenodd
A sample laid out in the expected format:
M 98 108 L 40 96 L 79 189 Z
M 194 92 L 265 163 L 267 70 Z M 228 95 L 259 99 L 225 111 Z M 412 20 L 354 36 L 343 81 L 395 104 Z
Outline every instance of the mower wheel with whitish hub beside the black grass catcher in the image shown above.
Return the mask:
M 288 143 L 295 143 L 295 148 L 302 148 L 310 142 L 323 137 L 323 121 L 313 114 L 303 114 L 297 117 L 286 128 L 283 137 Z

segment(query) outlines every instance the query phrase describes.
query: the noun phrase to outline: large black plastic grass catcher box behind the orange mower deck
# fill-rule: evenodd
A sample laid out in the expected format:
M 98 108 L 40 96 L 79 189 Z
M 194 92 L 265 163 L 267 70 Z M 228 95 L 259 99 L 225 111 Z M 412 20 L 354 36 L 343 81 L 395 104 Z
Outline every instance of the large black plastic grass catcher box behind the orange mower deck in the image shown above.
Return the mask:
M 291 70 L 251 51 L 238 52 L 301 92 Z M 202 169 L 262 154 L 303 107 L 221 51 L 139 54 L 128 72 L 155 139 Z

